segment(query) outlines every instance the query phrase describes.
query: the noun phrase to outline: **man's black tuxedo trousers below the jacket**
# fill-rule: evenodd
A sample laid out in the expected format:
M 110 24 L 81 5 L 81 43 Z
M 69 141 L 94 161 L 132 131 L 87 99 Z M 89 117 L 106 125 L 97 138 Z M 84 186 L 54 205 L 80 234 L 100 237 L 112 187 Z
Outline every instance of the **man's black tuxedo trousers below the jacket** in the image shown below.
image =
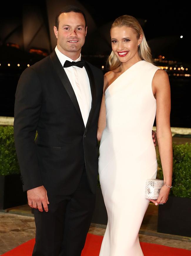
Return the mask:
M 72 195 L 48 194 L 48 212 L 34 209 L 36 243 L 32 256 L 80 256 L 91 224 L 95 198 L 86 171 Z

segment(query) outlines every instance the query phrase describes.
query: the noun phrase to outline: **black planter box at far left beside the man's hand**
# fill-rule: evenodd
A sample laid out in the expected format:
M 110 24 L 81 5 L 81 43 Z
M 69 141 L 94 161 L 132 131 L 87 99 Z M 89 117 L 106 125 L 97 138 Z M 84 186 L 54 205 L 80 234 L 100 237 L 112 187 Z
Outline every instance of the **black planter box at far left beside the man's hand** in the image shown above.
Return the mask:
M 0 209 L 27 204 L 19 174 L 0 175 Z

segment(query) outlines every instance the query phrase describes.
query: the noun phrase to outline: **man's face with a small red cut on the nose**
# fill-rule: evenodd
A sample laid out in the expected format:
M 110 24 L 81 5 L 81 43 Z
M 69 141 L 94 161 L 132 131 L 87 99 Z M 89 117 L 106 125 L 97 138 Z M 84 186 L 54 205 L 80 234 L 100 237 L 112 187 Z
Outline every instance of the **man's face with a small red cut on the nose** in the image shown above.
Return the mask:
M 58 39 L 58 50 L 66 56 L 69 55 L 68 57 L 80 55 L 87 33 L 83 14 L 76 12 L 62 13 L 58 20 L 58 30 L 54 26 L 54 33 Z

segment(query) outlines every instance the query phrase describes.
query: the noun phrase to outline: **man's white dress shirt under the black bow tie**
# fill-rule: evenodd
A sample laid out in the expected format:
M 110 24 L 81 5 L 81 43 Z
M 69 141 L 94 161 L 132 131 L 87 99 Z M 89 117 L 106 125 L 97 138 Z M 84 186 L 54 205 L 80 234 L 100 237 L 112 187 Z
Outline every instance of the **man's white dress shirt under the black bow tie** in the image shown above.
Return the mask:
M 56 55 L 58 56 L 59 61 L 61 62 L 62 66 L 64 65 L 65 61 L 73 61 L 71 58 L 67 57 L 63 53 L 61 53 L 57 46 L 55 48 Z M 81 60 L 81 54 L 79 58 L 75 61 Z M 76 94 L 76 98 L 80 107 L 80 111 L 82 114 L 83 122 L 86 127 L 88 116 L 91 110 L 91 89 L 90 89 L 90 82 L 88 78 L 88 74 L 86 72 L 85 67 L 79 68 L 76 66 L 71 66 L 68 68 L 63 68 L 70 80 L 74 93 Z

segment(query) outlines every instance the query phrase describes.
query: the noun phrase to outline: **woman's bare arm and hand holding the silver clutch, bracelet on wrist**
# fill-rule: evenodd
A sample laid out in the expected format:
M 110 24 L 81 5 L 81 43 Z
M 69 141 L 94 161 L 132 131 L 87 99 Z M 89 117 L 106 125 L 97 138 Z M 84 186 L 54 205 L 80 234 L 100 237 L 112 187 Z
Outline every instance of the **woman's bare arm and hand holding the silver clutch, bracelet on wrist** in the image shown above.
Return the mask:
M 156 127 L 159 154 L 164 176 L 164 184 L 172 185 L 172 133 L 170 130 L 170 83 L 166 71 L 158 70 L 152 82 L 155 93 L 157 111 Z M 159 194 L 156 204 L 166 203 L 170 187 L 164 185 Z

